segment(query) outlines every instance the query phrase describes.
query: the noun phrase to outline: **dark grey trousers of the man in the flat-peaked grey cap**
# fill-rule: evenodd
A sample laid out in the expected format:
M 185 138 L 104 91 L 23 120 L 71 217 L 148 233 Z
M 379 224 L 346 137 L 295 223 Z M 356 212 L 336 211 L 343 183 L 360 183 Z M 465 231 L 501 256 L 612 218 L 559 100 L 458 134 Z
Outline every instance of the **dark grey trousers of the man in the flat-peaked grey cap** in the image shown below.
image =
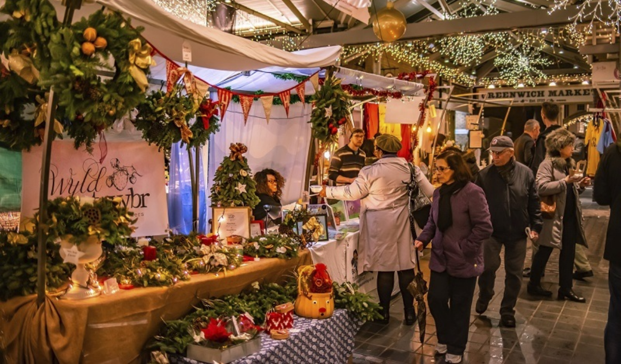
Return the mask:
M 522 288 L 522 271 L 526 257 L 526 239 L 504 243 L 495 237 L 483 242 L 483 274 L 479 277 L 479 299 L 489 303 L 494 298 L 496 271 L 501 266 L 501 249 L 504 245 L 505 287 L 502 296 L 501 315 L 514 316 L 517 296 Z

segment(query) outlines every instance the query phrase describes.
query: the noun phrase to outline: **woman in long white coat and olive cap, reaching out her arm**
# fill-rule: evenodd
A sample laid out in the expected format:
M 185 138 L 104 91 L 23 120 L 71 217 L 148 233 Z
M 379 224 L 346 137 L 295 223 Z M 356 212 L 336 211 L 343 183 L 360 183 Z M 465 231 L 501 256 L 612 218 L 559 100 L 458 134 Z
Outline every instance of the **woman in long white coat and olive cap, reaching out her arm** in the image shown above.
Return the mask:
M 414 240 L 410 232 L 406 183 L 410 179 L 408 162 L 397 157 L 401 141 L 394 135 L 375 139 L 378 161 L 360 170 L 358 178 L 348 186 L 324 187 L 320 196 L 352 201 L 360 199 L 360 238 L 358 240 L 358 271 L 378 272 L 378 296 L 382 306 L 379 321 L 388 324 L 389 306 L 394 286 L 394 272 L 405 309 L 405 323 L 415 321 L 414 297 L 407 285 L 414 280 Z M 415 179 L 424 193 L 431 197 L 433 186 L 415 167 Z M 420 232 L 420 227 L 417 227 Z

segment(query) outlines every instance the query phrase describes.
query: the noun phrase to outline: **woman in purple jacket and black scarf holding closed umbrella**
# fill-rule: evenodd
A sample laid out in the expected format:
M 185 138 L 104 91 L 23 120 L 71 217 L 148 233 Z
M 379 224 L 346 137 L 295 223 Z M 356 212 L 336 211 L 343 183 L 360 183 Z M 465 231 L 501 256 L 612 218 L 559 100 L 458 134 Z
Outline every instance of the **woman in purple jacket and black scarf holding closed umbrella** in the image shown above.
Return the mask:
M 483 272 L 483 240 L 491 236 L 492 223 L 485 194 L 470 182 L 460 155 L 438 155 L 434 171 L 442 186 L 433 193 L 429 221 L 414 246 L 422 250 L 433 239 L 427 299 L 438 336 L 435 349 L 446 354 L 446 363 L 461 363 L 476 277 Z

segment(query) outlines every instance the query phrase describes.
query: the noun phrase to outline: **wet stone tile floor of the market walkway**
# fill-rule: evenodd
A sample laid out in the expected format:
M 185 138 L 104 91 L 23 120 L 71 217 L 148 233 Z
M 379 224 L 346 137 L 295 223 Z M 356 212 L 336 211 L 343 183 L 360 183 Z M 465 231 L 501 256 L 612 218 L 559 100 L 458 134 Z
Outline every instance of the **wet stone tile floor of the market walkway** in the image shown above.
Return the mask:
M 586 303 L 533 299 L 526 293 L 528 278 L 524 278 L 516 305 L 517 327 L 499 327 L 500 302 L 504 293 L 504 270 L 496 278 L 496 296 L 483 316 L 474 312 L 478 288 L 474 294 L 470 335 L 463 363 L 470 364 L 598 364 L 604 363 L 604 327 L 607 320 L 608 262 L 602 259 L 609 210 L 591 201 L 587 190 L 581 196 L 584 209 L 585 233 L 589 243 L 587 255 L 595 276 L 586 281 L 574 281 L 574 291 L 587 299 Z M 425 251 L 421 266 L 429 278 L 429 252 Z M 530 248 L 526 266 L 530 265 Z M 554 293 L 558 289 L 558 250 L 546 267 L 542 285 Z M 388 325 L 365 324 L 356 335 L 353 363 L 439 363 L 443 357 L 433 357 L 436 344 L 433 316 L 427 316 L 427 331 L 420 342 L 419 330 L 402 324 L 401 296 L 391 303 Z

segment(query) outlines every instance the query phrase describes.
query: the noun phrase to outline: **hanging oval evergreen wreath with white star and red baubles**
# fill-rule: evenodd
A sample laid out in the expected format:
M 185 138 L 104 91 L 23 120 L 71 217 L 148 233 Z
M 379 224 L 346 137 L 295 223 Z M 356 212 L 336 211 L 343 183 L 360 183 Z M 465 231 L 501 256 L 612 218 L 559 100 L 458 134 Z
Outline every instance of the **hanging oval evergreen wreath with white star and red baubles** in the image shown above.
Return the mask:
M 338 127 L 347 123 L 350 96 L 343 91 L 341 79 L 326 72 L 323 86 L 313 96 L 312 135 L 324 144 L 336 142 Z

